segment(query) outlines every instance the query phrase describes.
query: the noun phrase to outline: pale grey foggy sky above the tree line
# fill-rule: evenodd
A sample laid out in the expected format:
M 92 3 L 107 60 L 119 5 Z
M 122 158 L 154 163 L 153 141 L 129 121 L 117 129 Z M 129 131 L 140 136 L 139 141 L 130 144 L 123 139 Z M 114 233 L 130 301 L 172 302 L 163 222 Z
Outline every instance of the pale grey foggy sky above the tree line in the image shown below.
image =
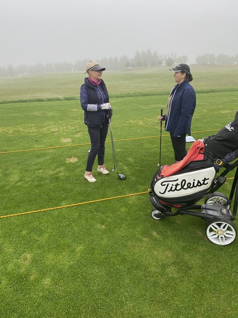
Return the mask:
M 237 0 L 2 0 L 0 67 L 156 51 L 238 54 Z

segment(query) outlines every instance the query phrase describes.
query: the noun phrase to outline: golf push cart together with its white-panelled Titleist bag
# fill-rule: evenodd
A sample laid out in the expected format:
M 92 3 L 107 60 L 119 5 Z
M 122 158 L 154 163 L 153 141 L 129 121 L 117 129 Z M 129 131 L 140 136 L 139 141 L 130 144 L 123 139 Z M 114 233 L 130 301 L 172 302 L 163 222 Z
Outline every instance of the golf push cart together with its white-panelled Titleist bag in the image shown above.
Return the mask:
M 199 156 L 172 175 L 163 174 L 168 165 L 161 166 L 155 173 L 149 191 L 149 200 L 153 206 L 151 215 L 155 220 L 184 214 L 202 218 L 206 222 L 207 238 L 212 243 L 228 245 L 237 236 L 233 221 L 236 219 L 238 207 L 238 160 L 235 163 L 227 163 L 225 170 L 221 174 L 219 172 L 216 177 L 217 171 L 209 153 L 203 149 Z M 235 177 L 228 198 L 217 190 L 225 183 L 226 175 L 234 169 Z M 196 204 L 203 198 L 204 204 Z M 175 212 L 172 212 L 172 208 Z

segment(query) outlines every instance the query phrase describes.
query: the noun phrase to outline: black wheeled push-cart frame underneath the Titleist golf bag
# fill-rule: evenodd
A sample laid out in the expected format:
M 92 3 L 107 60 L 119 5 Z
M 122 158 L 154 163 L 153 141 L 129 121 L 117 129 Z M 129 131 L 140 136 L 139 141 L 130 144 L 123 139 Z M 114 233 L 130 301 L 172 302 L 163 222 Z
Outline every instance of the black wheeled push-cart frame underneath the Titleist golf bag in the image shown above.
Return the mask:
M 224 167 L 225 170 L 214 178 L 206 193 L 196 201 L 198 202 L 205 198 L 204 204 L 193 204 L 186 206 L 186 208 L 179 207 L 176 212 L 172 212 L 172 208 L 176 208 L 176 206 L 170 203 L 164 203 L 153 192 L 153 189 L 150 190 L 149 199 L 154 207 L 151 211 L 152 218 L 161 220 L 167 216 L 172 217 L 184 214 L 199 217 L 206 222 L 206 236 L 211 242 L 218 245 L 228 245 L 232 243 L 237 236 L 233 221 L 236 219 L 238 208 L 238 160 L 235 163 L 227 163 Z M 163 169 L 163 167 L 161 169 Z M 236 169 L 236 173 L 230 196 L 227 197 L 225 194 L 217 192 L 217 190 L 225 183 L 227 179 L 226 175 L 234 169 Z M 233 212 L 231 212 L 230 209 L 234 196 Z

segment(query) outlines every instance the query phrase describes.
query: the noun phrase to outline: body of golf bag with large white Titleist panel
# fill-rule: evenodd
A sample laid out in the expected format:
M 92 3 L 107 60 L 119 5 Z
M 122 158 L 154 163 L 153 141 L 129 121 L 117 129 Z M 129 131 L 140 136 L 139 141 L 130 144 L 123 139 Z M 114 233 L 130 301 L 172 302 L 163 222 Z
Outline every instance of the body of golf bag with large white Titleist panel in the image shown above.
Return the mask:
M 172 171 L 173 166 L 176 167 L 177 164 L 170 166 Z M 168 165 L 161 166 L 151 182 L 150 202 L 162 213 L 170 211 L 172 207 L 177 209 L 190 207 L 207 192 L 212 193 L 217 189 L 214 158 L 204 148 L 200 149 L 199 154 L 179 171 L 164 176 L 163 171 L 168 167 Z

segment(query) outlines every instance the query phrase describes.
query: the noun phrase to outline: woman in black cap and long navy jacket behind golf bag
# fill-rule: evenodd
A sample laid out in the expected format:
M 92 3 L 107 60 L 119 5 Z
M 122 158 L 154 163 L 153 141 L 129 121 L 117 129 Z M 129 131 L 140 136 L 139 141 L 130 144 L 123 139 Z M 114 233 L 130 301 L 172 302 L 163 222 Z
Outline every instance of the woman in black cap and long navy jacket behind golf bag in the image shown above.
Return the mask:
M 170 137 L 175 152 L 175 160 L 182 160 L 186 154 L 186 134 L 191 134 L 192 115 L 196 107 L 196 94 L 189 84 L 193 77 L 187 64 L 179 64 L 174 71 L 177 84 L 172 89 L 166 114 L 159 116 L 159 120 L 165 120 L 165 130 L 170 132 Z

